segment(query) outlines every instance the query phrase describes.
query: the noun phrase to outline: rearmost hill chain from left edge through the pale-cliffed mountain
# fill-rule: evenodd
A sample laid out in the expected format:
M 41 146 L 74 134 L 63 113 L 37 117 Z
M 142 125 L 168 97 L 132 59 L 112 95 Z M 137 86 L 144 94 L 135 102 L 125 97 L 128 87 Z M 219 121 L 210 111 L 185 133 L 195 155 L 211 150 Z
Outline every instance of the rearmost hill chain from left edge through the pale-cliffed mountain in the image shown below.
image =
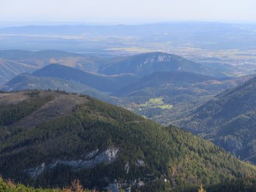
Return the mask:
M 46 65 L 60 63 L 85 72 L 107 75 L 132 74 L 141 77 L 156 71 L 186 71 L 205 76 L 227 77 L 218 72 L 218 70 L 163 52 L 115 57 L 85 56 L 83 54 L 52 50 L 2 50 L 0 51 L 0 62 L 1 66 L 3 66 L 0 68 L 0 84 L 6 83 L 21 73 L 35 72 L 35 70 Z M 142 63 L 144 64 L 142 65 Z

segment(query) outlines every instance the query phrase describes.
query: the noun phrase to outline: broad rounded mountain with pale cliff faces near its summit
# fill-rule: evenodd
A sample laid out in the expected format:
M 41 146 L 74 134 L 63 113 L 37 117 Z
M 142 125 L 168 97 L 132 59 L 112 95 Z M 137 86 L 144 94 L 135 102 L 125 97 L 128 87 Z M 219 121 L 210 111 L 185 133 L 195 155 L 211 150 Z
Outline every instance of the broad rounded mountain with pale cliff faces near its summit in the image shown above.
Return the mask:
M 199 63 L 186 60 L 174 54 L 164 52 L 147 52 L 110 61 L 99 68 L 99 72 L 108 75 L 136 74 L 147 76 L 153 72 L 191 72 L 205 76 L 227 77 L 221 72 L 205 67 Z

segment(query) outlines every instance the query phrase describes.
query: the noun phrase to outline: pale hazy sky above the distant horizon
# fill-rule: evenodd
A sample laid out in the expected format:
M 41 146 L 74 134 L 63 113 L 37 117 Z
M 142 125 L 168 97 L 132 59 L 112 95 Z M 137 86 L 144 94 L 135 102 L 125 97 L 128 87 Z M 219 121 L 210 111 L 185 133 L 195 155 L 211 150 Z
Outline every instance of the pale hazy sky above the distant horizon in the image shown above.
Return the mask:
M 0 0 L 4 22 L 256 22 L 256 0 Z

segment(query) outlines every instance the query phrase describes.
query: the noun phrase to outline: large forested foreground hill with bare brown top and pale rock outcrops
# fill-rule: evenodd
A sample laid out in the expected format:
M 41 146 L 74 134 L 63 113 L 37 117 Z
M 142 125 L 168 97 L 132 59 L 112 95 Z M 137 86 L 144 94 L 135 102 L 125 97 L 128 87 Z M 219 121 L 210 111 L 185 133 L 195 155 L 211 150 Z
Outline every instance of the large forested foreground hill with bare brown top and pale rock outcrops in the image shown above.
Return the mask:
M 24 184 L 184 191 L 256 174 L 209 141 L 91 97 L 0 93 L 0 106 L 0 173 Z

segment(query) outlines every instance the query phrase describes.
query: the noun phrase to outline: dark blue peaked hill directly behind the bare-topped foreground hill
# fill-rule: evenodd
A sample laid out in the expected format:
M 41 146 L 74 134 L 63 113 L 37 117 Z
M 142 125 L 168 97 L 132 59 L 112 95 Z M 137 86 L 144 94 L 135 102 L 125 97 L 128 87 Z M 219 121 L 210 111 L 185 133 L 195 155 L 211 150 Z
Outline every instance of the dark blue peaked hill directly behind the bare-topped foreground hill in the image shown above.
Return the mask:
M 32 74 L 20 74 L 6 84 L 0 90 L 12 92 L 19 90 L 64 90 L 65 92 L 83 93 L 91 95 L 111 103 L 116 99 L 108 93 L 135 83 L 138 77 L 131 74 L 106 76 L 84 72 L 65 65 L 51 64 Z

